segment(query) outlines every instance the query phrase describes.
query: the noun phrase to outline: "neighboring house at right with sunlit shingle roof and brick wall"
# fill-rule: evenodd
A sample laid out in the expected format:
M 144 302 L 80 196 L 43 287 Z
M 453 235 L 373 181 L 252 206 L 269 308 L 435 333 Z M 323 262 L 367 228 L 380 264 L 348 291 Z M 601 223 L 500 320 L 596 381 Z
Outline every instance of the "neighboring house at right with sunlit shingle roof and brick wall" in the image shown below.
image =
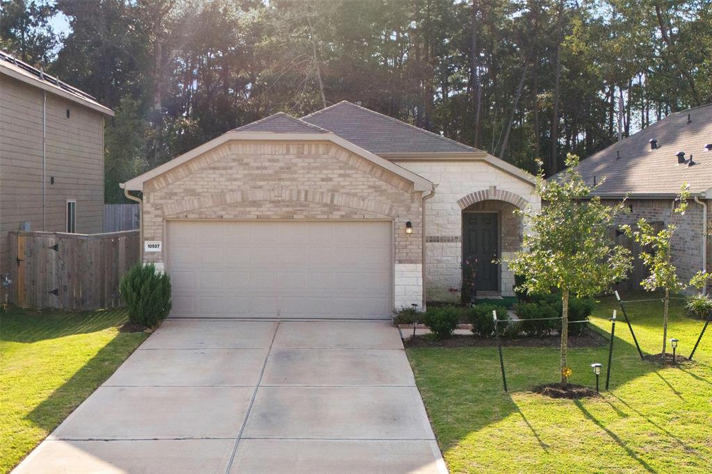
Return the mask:
M 688 282 L 699 270 L 710 270 L 708 205 L 712 199 L 712 104 L 676 112 L 636 134 L 612 144 L 580 162 L 577 170 L 588 184 L 604 183 L 595 194 L 604 202 L 627 196 L 629 212 L 619 224 L 646 218 L 657 228 L 670 222 L 671 206 L 683 184 L 692 199 L 672 244 L 673 261 L 681 280 Z M 625 236 L 621 243 L 639 251 Z M 626 289 L 640 289 L 647 272 L 637 260 Z

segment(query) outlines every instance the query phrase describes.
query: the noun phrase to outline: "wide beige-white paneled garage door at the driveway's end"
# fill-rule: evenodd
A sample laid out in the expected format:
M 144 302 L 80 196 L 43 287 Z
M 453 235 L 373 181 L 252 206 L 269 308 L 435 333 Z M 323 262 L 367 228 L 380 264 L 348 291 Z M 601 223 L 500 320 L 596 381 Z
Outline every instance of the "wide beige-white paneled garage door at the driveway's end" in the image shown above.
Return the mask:
M 171 221 L 173 317 L 383 318 L 390 222 Z

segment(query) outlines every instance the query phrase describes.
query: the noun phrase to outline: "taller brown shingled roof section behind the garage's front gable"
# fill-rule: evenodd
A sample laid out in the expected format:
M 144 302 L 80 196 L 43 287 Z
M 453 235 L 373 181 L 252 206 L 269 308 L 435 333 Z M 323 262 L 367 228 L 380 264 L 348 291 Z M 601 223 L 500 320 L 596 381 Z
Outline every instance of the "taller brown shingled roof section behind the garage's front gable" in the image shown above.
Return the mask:
M 301 120 L 330 130 L 376 154 L 479 151 L 345 100 Z

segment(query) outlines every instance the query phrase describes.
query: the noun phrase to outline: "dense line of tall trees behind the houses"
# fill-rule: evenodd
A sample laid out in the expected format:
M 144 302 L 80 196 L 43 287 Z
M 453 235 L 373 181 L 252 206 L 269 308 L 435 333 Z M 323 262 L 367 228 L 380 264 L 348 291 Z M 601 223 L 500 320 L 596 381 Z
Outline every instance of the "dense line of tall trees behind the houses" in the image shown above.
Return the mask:
M 712 102 L 712 0 L 0 0 L 0 46 L 115 109 L 116 183 L 340 100 L 548 174 Z M 70 22 L 57 37 L 49 19 Z

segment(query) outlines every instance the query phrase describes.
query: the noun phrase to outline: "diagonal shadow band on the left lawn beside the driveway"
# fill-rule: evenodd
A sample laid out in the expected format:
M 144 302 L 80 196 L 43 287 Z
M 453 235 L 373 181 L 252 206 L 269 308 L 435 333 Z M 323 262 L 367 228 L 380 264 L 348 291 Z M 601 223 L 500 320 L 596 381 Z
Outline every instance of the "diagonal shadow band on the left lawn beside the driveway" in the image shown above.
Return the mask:
M 138 346 L 135 337 L 140 335 L 120 334 L 111 339 L 25 418 L 41 426 L 48 433 L 53 431 L 130 356 L 131 348 Z

